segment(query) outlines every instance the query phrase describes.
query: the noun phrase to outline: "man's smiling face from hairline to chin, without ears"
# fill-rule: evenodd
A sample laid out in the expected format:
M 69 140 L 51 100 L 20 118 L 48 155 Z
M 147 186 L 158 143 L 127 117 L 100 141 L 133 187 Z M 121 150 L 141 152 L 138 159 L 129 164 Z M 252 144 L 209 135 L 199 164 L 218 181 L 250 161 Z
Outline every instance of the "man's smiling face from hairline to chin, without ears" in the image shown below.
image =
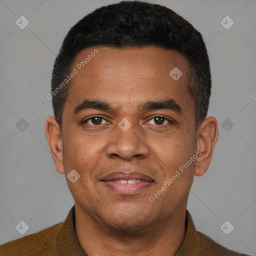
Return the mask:
M 200 145 L 189 68 L 171 50 L 96 48 L 80 51 L 70 69 L 77 73 L 63 106 L 57 170 L 80 175 L 67 178 L 76 210 L 139 230 L 186 207 Z M 174 67 L 178 79 L 169 74 Z

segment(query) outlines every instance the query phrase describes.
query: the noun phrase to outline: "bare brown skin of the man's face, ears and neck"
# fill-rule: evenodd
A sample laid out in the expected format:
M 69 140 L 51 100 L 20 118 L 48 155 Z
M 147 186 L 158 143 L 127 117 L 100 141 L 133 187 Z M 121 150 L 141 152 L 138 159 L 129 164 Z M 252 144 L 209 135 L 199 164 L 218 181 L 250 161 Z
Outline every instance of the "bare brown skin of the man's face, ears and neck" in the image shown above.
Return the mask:
M 75 230 L 88 255 L 174 255 L 185 234 L 185 209 L 193 176 L 202 175 L 217 140 L 217 121 L 209 116 L 196 129 L 194 101 L 187 90 L 188 63 L 176 51 L 96 47 L 98 53 L 72 79 L 63 106 L 62 133 L 53 116 L 45 126 L 59 173 L 75 169 L 80 178 L 66 178 L 75 202 Z M 80 51 L 71 70 L 94 48 Z M 182 76 L 172 79 L 178 67 Z M 86 109 L 74 114 L 84 99 L 107 101 L 111 110 Z M 140 110 L 147 100 L 173 99 L 181 114 L 169 109 Z M 101 124 L 92 119 L 103 117 Z M 159 124 L 153 117 L 163 116 Z M 126 118 L 127 131 L 118 123 Z M 197 160 L 158 197 L 154 195 L 179 166 L 200 151 Z M 146 188 L 123 195 L 101 180 L 125 169 L 148 175 Z

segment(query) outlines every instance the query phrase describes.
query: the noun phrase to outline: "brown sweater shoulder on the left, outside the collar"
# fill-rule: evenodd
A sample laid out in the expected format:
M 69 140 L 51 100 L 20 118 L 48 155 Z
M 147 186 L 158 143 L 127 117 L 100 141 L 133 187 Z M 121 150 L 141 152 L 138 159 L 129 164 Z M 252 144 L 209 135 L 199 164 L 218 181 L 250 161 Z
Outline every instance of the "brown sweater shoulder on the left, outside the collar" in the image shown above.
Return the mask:
M 63 222 L 0 245 L 0 256 L 57 255 L 56 237 Z

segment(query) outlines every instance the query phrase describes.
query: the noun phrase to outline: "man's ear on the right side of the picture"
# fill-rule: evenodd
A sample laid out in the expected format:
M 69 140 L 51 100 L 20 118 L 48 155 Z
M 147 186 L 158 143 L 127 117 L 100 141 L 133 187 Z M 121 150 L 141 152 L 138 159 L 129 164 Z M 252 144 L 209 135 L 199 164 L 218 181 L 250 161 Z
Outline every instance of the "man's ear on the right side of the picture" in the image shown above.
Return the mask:
M 194 175 L 201 176 L 209 167 L 213 148 L 217 142 L 218 124 L 216 118 L 213 116 L 205 118 L 197 128 L 196 135 L 197 151 L 201 153 L 197 157 Z

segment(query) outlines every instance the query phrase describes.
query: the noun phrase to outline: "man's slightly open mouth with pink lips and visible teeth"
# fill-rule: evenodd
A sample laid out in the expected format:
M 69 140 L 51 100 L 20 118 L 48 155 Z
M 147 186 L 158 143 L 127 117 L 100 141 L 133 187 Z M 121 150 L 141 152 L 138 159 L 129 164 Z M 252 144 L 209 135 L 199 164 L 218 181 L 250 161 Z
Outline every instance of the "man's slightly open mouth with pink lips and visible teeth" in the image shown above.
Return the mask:
M 112 172 L 101 181 L 112 191 L 121 194 L 134 194 L 150 186 L 154 180 L 139 172 Z

